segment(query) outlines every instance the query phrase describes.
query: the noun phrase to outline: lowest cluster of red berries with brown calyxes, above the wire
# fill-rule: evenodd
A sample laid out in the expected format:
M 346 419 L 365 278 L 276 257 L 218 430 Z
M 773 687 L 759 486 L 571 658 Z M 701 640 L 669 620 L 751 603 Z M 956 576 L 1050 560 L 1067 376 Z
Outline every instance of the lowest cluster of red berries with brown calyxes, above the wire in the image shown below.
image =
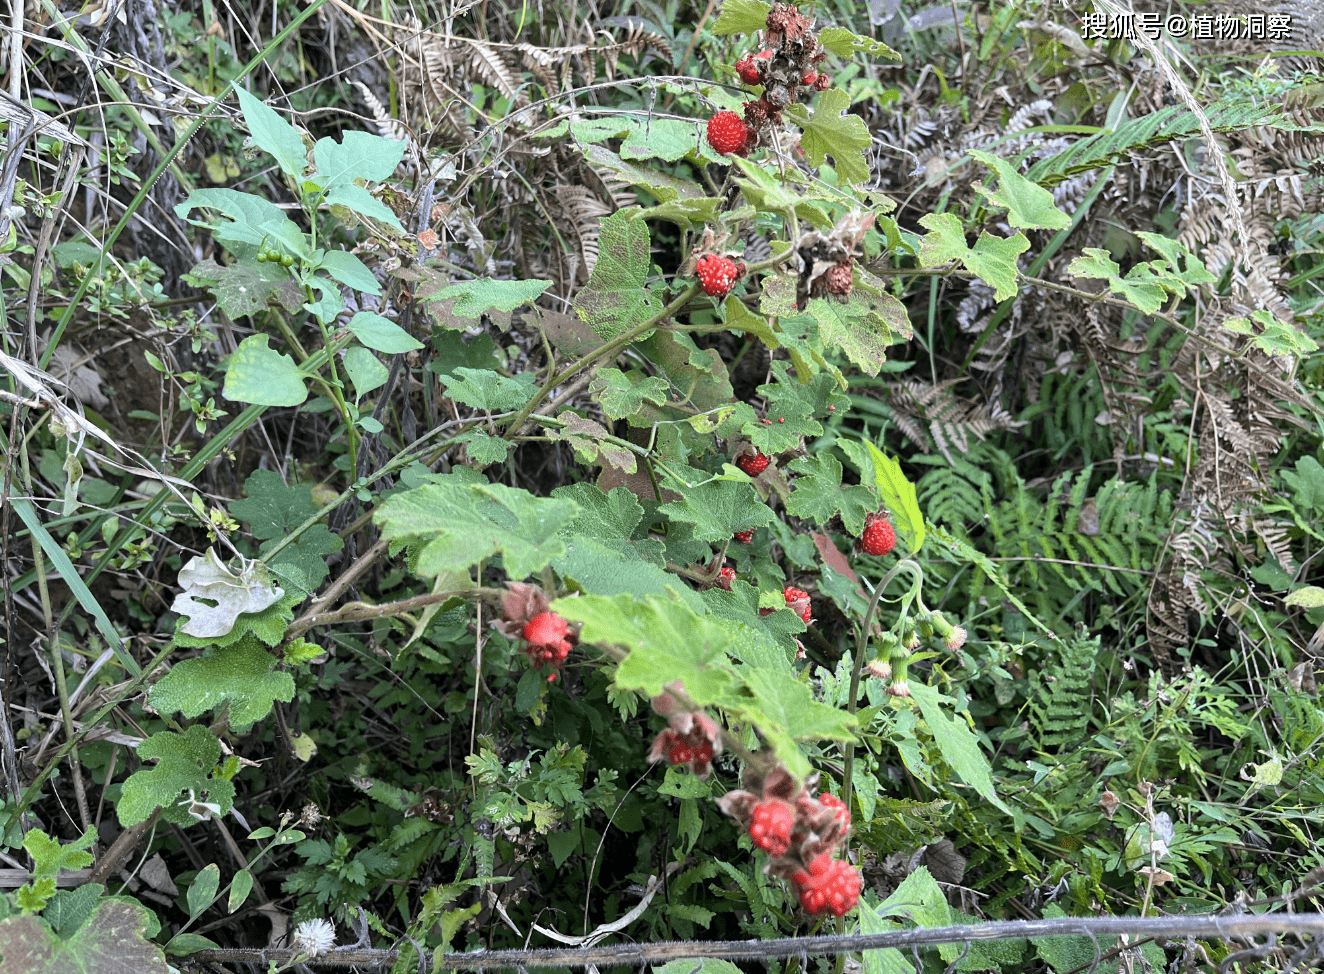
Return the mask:
M 841 917 L 854 909 L 861 888 L 859 872 L 833 858 L 850 831 L 850 811 L 834 795 L 813 795 L 817 777 L 801 786 L 781 766 L 765 777 L 747 769 L 744 789 L 728 791 L 718 805 L 768 852 L 767 872 L 789 880 L 806 912 Z

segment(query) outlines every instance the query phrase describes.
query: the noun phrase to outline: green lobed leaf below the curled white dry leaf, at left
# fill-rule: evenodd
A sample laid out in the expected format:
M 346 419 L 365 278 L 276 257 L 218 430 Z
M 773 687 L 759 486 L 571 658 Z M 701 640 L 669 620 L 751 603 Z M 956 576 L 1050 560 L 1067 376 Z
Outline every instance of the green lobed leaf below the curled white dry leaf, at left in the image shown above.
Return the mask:
M 229 705 L 230 728 L 245 733 L 277 700 L 294 699 L 294 678 L 277 671 L 278 662 L 257 639 L 241 639 L 176 663 L 151 688 L 147 701 L 160 713 L 177 711 L 187 720 Z

